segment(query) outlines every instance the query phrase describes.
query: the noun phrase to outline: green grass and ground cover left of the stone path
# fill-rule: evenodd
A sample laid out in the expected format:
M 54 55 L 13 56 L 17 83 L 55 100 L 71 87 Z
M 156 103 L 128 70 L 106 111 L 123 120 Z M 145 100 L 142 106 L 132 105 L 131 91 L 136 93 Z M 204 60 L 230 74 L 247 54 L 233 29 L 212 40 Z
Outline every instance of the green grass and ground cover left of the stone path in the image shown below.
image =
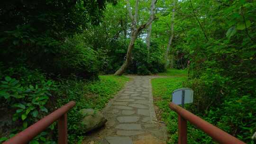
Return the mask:
M 59 107 L 73 100 L 76 106 L 68 112 L 68 140 L 69 144 L 81 144 L 84 134 L 79 121 L 82 108 L 101 110 L 109 99 L 121 90 L 129 78 L 125 76 L 101 75 L 96 81 L 82 81 L 77 79 L 65 80 L 58 91 Z

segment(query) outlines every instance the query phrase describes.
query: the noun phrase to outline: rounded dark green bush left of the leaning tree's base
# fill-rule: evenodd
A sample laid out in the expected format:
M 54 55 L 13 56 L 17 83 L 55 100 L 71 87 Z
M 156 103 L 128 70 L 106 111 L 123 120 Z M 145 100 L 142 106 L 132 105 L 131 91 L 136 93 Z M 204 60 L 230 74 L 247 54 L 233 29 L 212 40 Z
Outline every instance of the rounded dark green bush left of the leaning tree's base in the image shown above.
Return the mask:
M 67 38 L 54 59 L 53 72 L 68 76 L 71 73 L 83 78 L 96 78 L 99 73 L 97 52 L 85 43 L 83 35 Z

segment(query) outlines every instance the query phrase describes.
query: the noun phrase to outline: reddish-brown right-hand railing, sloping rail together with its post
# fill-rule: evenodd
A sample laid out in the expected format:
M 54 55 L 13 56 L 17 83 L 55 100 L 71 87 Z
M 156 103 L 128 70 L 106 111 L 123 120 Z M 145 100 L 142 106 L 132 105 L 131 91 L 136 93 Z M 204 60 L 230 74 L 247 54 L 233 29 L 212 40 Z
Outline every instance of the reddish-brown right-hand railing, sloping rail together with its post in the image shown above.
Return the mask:
M 197 126 L 199 129 L 201 129 L 207 135 L 212 137 L 219 144 L 245 144 L 244 142 L 238 140 L 236 137 L 229 135 L 218 127 L 211 125 L 210 123 L 204 121 L 200 117 L 197 117 L 186 109 L 174 104 L 173 102 L 169 103 L 169 108 L 178 114 L 178 144 L 187 144 L 187 120 L 194 126 Z

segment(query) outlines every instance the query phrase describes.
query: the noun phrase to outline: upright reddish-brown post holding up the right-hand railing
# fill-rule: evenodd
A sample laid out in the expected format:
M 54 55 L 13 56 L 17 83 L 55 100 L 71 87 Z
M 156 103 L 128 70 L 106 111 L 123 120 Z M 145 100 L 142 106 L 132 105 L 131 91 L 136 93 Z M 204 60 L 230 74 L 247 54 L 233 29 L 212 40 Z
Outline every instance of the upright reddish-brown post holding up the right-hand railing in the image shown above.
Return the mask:
M 187 121 L 178 114 L 179 142 L 178 144 L 187 144 Z

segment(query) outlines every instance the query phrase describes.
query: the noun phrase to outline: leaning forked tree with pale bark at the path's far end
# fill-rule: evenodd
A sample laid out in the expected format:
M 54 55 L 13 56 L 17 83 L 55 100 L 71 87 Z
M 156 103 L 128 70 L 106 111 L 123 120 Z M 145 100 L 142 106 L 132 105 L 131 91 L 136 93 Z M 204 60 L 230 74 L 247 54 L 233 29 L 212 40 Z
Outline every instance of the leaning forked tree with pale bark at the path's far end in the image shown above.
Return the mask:
M 152 0 L 151 7 L 155 7 L 156 0 Z M 154 6 L 153 6 L 154 5 Z M 127 0 L 127 9 L 129 13 L 129 17 L 132 20 L 132 26 L 131 26 L 131 36 L 130 36 L 130 42 L 128 45 L 128 50 L 126 54 L 126 60 L 122 64 L 122 66 L 115 72 L 114 75 L 122 75 L 125 70 L 127 69 L 130 61 L 131 61 L 131 54 L 132 54 L 132 49 L 134 48 L 134 43 L 136 41 L 136 38 L 138 34 L 145 28 L 148 27 L 155 19 L 155 13 L 153 13 L 152 17 L 150 17 L 145 24 L 140 25 L 137 27 L 137 20 L 138 20 L 138 7 L 139 7 L 139 0 L 136 0 L 136 5 L 135 5 L 135 14 L 132 14 L 132 9 L 130 6 L 129 0 Z

